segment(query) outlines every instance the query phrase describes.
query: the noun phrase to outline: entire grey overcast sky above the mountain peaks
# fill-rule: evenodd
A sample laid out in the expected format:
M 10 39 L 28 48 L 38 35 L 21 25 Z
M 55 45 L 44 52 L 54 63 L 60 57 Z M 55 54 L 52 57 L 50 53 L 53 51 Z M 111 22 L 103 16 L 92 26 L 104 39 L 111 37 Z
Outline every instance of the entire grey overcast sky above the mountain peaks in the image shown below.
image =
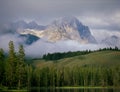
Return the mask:
M 16 21 L 49 24 L 76 16 L 93 30 L 120 31 L 120 0 L 0 0 L 0 27 Z

